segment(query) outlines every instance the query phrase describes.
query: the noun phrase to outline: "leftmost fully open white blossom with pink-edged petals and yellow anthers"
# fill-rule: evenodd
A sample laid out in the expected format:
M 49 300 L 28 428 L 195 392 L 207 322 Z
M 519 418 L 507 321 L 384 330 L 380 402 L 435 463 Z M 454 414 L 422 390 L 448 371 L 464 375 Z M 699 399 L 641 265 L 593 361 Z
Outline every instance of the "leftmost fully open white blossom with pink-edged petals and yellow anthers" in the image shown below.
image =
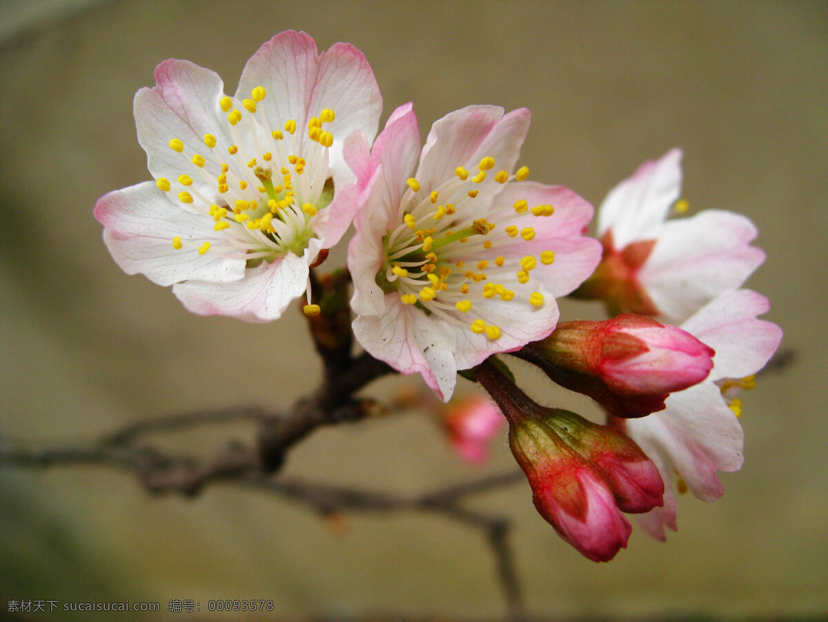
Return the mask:
M 248 60 L 233 97 L 185 60 L 166 60 L 155 78 L 134 103 L 155 181 L 95 206 L 109 251 L 128 274 L 173 285 L 195 313 L 278 318 L 358 207 L 343 145 L 377 130 L 371 68 L 353 45 L 320 55 L 310 36 L 286 31 Z

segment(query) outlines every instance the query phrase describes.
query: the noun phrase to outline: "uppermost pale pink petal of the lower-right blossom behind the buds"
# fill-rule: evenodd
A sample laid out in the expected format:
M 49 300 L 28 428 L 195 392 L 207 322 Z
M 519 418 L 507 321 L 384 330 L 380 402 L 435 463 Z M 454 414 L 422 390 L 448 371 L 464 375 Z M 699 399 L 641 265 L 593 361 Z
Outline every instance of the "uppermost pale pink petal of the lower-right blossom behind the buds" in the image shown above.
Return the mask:
M 773 356 L 782 329 L 757 319 L 768 309 L 762 294 L 737 289 L 720 295 L 684 323 L 683 328 L 716 351 L 711 380 L 755 374 Z

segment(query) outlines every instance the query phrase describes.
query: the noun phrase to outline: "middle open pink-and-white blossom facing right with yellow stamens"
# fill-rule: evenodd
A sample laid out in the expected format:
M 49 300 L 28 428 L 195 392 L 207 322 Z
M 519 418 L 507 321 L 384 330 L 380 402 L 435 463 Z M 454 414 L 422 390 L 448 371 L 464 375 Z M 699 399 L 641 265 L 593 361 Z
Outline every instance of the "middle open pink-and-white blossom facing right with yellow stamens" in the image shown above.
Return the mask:
M 354 334 L 370 354 L 420 373 L 443 400 L 456 373 L 555 328 L 556 296 L 591 274 L 592 207 L 517 165 L 529 112 L 471 106 L 431 128 L 420 150 L 410 104 L 373 149 L 345 157 L 366 194 L 349 246 Z

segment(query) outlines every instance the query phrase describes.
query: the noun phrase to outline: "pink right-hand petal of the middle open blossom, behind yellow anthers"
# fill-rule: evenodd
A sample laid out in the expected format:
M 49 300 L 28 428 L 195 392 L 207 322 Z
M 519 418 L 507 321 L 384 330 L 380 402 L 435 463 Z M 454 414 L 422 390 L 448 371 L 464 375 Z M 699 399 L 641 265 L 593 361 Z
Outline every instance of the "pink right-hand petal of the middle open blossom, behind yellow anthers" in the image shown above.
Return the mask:
M 493 220 L 501 228 L 513 224 L 519 229 L 532 227 L 535 230 L 531 242 L 513 237 L 498 243 L 498 254 L 505 256 L 508 252 L 514 256 L 537 257 L 542 251 L 553 251 L 555 261 L 548 266 L 538 266 L 532 277 L 537 276 L 555 296 L 569 294 L 592 274 L 601 259 L 600 243 L 584 235 L 584 229 L 592 219 L 592 205 L 564 186 L 512 182 L 505 185 L 489 211 L 492 214 L 495 210 L 513 213 L 512 206 L 520 199 L 525 199 L 530 207 L 551 204 L 555 213 L 548 217 L 534 217 L 526 212 L 521 217 L 514 214 L 516 218 L 508 222 L 502 217 Z M 492 215 L 491 218 L 496 217 Z

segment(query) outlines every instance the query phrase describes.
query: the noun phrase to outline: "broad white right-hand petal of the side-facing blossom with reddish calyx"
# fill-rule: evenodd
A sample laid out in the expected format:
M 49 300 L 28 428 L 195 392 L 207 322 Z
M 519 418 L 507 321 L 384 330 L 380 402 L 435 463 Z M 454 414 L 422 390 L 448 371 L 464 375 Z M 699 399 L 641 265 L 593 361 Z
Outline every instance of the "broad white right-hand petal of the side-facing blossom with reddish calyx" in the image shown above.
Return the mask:
M 754 237 L 748 218 L 723 210 L 665 222 L 638 280 L 662 315 L 681 323 L 762 263 L 763 251 L 749 246 Z

